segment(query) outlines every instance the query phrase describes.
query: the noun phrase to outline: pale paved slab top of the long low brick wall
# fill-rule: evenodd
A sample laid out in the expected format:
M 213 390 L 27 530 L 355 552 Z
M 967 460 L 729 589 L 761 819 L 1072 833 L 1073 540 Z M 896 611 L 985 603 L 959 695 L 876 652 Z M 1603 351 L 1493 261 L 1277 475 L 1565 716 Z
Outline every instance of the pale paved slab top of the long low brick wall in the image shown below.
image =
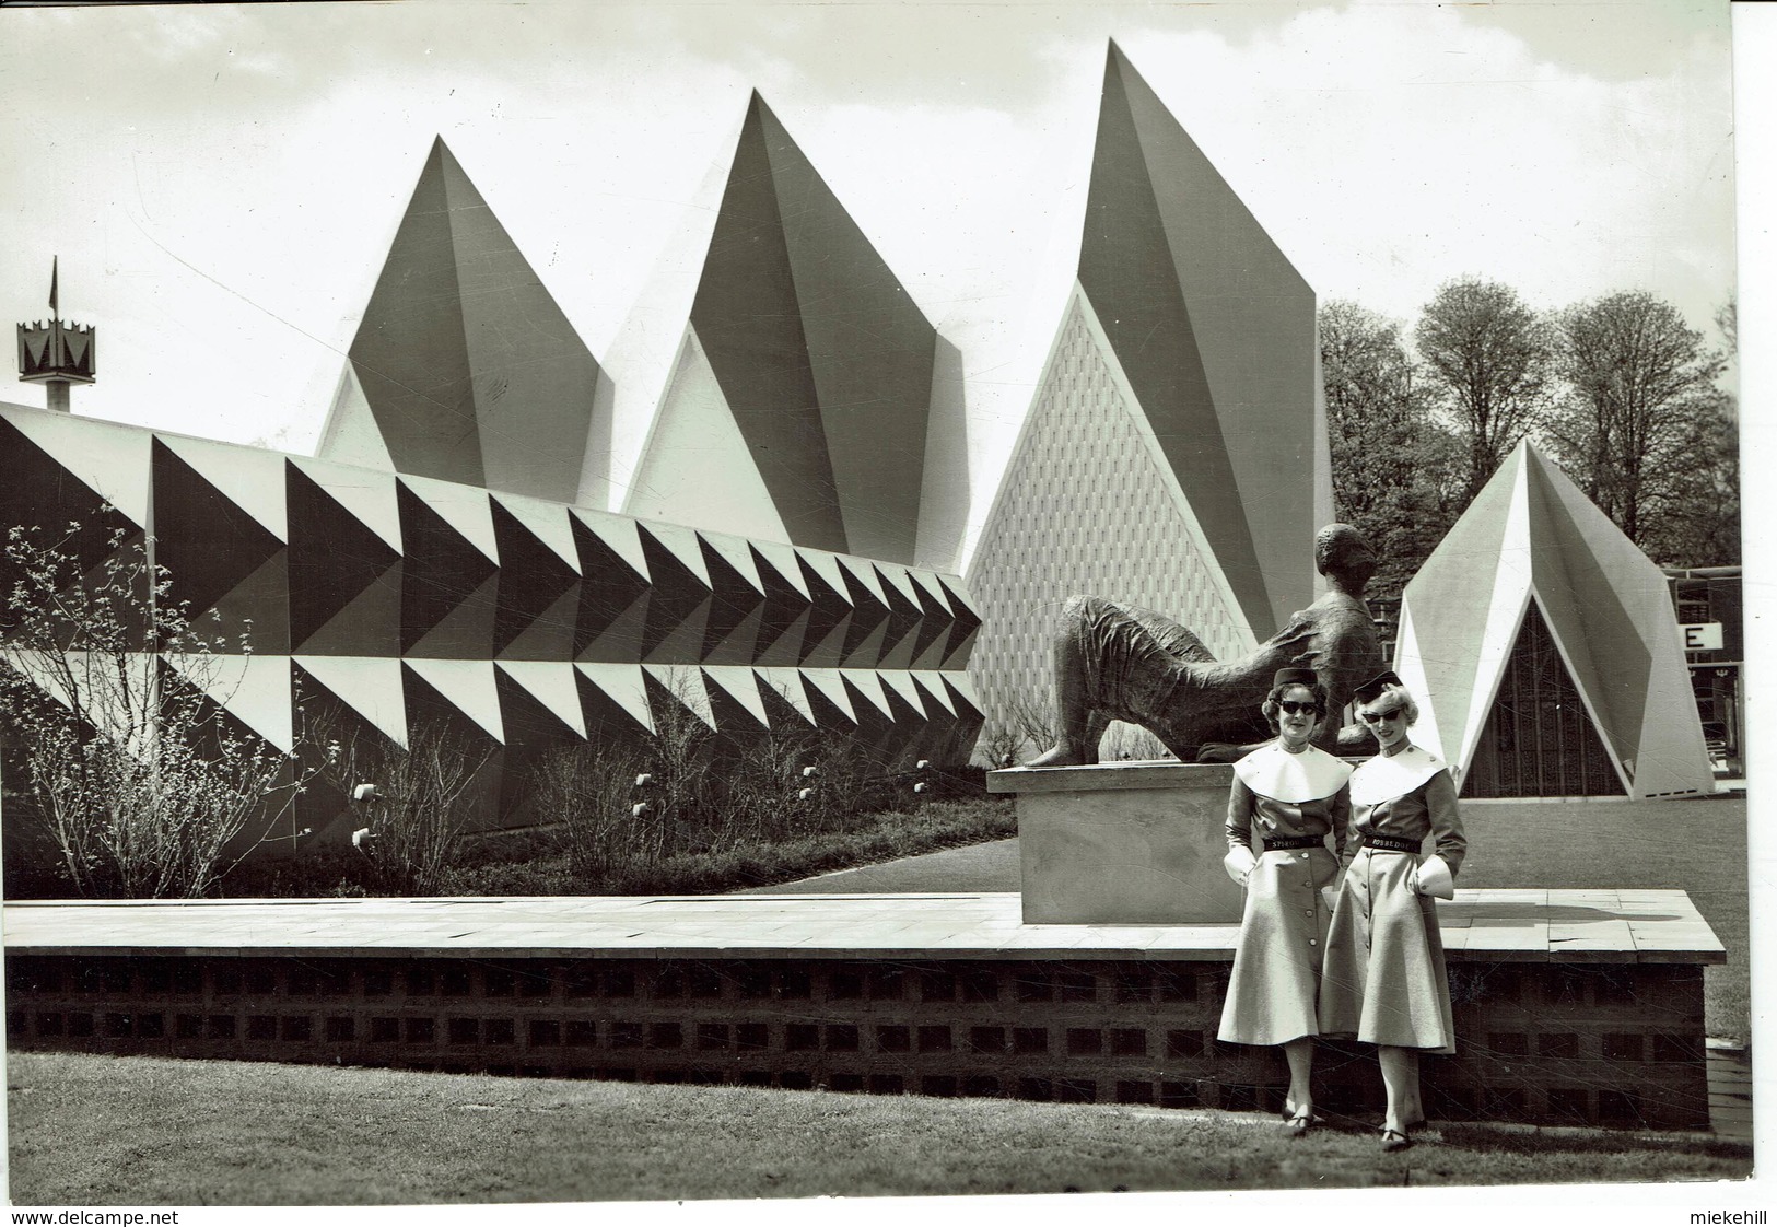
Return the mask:
M 1438 905 L 1452 960 L 1720 964 L 1683 891 L 1477 889 Z M 1228 962 L 1235 925 L 1025 925 L 1016 893 L 7 903 L 43 955 L 460 958 L 1160 958 Z

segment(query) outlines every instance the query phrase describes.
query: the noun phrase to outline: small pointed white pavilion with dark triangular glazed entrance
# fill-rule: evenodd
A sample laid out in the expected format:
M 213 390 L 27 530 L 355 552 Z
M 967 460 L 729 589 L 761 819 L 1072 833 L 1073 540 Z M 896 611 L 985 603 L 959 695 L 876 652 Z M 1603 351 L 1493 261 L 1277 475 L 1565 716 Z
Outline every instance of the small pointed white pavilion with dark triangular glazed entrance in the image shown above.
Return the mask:
M 1466 795 L 1715 790 L 1665 573 L 1528 441 L 1402 592 L 1395 669 Z

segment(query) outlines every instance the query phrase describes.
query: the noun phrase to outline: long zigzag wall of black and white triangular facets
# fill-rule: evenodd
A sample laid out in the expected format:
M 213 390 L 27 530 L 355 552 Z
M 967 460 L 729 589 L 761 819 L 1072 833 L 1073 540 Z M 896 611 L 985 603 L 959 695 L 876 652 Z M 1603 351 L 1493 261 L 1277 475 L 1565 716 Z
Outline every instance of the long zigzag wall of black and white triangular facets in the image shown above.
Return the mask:
M 954 576 L 21 405 L 0 475 L 0 525 L 82 521 L 87 567 L 108 528 L 153 533 L 174 597 L 227 642 L 251 619 L 211 690 L 240 724 L 290 749 L 299 694 L 398 743 L 439 720 L 496 749 L 494 809 L 542 749 L 663 704 L 890 759 L 960 759 L 979 729 Z

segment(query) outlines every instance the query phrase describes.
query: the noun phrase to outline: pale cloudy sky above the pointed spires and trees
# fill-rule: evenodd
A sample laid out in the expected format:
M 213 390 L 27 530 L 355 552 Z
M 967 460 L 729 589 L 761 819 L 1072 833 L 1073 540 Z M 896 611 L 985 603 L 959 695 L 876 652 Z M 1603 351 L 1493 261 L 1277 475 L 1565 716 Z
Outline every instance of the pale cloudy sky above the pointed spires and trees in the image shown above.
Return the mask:
M 992 480 L 1077 258 L 1107 37 L 1322 302 L 1647 288 L 1715 340 L 1722 0 L 4 9 L 0 322 L 46 315 L 59 254 L 64 318 L 100 325 L 78 413 L 307 452 L 442 135 L 606 359 L 757 87 L 963 349 Z

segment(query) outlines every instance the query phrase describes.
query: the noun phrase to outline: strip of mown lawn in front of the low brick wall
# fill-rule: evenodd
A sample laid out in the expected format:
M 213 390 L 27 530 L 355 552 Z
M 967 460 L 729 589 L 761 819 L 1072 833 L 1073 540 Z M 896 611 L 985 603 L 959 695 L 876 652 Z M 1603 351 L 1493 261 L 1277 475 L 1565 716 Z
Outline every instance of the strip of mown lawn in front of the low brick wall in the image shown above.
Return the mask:
M 297 1206 L 1743 1179 L 1709 1136 L 11 1055 L 12 1200 Z

